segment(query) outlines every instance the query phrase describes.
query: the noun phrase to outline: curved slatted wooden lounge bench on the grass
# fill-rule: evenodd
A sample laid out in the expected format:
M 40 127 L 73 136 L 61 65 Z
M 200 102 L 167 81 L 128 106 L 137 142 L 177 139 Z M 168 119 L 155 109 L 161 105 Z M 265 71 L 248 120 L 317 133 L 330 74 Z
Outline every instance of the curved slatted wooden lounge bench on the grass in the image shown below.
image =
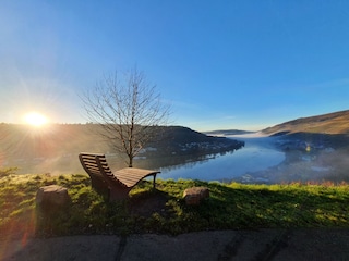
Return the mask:
M 153 188 L 155 188 L 156 174 L 160 173 L 136 167 L 112 172 L 105 154 L 101 153 L 80 153 L 79 159 L 91 177 L 92 187 L 110 201 L 128 198 L 130 190 L 148 176 L 153 176 Z

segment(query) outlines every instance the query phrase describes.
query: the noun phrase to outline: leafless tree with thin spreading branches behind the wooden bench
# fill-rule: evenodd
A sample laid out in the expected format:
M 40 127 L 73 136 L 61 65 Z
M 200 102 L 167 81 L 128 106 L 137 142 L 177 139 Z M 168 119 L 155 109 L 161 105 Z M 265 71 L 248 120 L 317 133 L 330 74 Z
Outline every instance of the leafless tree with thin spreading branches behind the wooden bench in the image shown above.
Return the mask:
M 99 124 L 99 134 L 128 156 L 130 167 L 169 117 L 169 105 L 161 102 L 156 86 L 136 69 L 121 77 L 118 72 L 105 76 L 82 100 L 88 121 Z

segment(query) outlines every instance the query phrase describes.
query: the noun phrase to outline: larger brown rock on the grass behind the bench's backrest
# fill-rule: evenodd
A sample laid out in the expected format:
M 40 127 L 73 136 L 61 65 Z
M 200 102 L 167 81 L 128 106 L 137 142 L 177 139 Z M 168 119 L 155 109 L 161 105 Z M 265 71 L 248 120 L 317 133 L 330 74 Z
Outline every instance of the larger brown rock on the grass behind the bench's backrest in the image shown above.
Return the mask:
M 58 185 L 40 187 L 36 192 L 38 206 L 65 206 L 70 202 L 68 189 Z

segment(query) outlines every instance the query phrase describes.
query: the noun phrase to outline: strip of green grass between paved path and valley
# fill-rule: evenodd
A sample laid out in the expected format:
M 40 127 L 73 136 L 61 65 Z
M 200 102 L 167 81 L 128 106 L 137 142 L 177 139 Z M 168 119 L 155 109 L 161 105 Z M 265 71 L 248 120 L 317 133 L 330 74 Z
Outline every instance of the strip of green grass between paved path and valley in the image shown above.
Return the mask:
M 58 184 L 71 203 L 36 208 L 40 186 Z M 186 206 L 185 188 L 206 186 L 210 197 Z M 349 227 L 349 185 L 243 185 L 201 181 L 143 182 L 130 199 L 106 202 L 87 175 L 9 175 L 0 178 L 0 234 L 181 234 L 204 229 Z

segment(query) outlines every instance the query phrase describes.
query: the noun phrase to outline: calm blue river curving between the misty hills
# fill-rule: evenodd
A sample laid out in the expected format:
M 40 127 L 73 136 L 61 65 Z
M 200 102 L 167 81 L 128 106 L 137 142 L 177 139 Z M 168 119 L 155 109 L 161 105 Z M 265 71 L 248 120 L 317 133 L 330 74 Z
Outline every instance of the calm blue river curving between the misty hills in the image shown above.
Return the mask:
M 230 181 L 248 172 L 263 171 L 278 165 L 285 153 L 274 147 L 275 138 L 231 136 L 245 141 L 245 146 L 231 153 L 212 156 L 205 161 L 189 162 L 177 167 L 163 167 L 159 178 L 190 178 L 201 181 Z

